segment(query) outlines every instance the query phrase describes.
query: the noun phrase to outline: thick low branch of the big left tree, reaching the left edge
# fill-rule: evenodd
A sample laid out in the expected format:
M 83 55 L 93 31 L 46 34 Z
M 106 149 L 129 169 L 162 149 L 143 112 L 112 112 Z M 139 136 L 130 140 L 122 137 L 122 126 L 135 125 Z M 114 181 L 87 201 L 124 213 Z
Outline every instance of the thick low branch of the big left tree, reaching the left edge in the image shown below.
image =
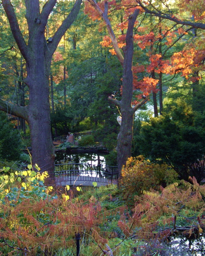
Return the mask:
M 3 101 L 0 99 L 0 110 L 6 112 L 7 114 L 16 116 L 16 117 L 22 117 L 23 119 L 28 121 L 27 107 L 17 106 L 13 103 Z

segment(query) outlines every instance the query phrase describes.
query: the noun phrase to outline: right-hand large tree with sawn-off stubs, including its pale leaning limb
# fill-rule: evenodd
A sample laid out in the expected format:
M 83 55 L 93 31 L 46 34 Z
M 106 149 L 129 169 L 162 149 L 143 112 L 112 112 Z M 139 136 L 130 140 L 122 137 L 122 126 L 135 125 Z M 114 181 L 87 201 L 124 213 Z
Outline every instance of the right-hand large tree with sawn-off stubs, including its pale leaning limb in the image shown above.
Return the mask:
M 128 19 L 128 28 L 126 33 L 126 46 L 124 49 L 124 57 L 118 47 L 118 43 L 113 32 L 110 20 L 108 19 L 108 2 L 105 2 L 104 12 L 99 8 L 94 0 L 88 0 L 99 15 L 103 18 L 106 23 L 108 33 L 110 35 L 115 53 L 118 60 L 123 65 L 123 89 L 122 99 L 118 100 L 108 97 L 108 100 L 113 104 L 117 105 L 121 109 L 122 122 L 120 126 L 120 132 L 117 138 L 117 159 L 118 159 L 118 176 L 121 177 L 121 169 L 123 165 L 126 165 L 127 158 L 131 156 L 131 146 L 133 138 L 133 117 L 134 112 L 144 104 L 147 99 L 142 100 L 140 103 L 132 107 L 132 96 L 133 96 L 133 27 L 134 23 L 139 14 L 139 9 L 136 9 Z M 119 185 L 119 183 L 118 183 Z

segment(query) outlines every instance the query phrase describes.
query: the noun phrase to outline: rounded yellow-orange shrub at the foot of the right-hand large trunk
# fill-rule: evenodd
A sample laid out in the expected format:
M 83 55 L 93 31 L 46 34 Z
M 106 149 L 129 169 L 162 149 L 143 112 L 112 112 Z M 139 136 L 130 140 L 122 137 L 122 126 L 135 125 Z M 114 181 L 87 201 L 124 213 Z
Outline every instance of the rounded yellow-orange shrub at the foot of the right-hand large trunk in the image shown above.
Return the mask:
M 130 157 L 122 169 L 120 187 L 126 195 L 140 194 L 150 188 L 159 189 L 164 183 L 167 168 L 166 164 L 150 163 L 142 156 Z

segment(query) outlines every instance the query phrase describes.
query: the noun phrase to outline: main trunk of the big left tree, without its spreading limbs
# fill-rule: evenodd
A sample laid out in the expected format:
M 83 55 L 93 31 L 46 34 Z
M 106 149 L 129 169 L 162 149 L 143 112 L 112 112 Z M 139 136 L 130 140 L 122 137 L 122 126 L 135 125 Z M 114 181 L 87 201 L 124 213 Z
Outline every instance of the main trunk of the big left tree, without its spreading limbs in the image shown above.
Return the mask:
M 48 171 L 54 179 L 54 147 L 51 136 L 49 104 L 49 59 L 44 57 L 44 36 L 37 39 L 33 47 L 33 59 L 27 66 L 29 77 L 29 116 L 31 132 L 32 164 L 38 164 L 41 171 Z M 38 60 L 38 61 L 36 61 Z

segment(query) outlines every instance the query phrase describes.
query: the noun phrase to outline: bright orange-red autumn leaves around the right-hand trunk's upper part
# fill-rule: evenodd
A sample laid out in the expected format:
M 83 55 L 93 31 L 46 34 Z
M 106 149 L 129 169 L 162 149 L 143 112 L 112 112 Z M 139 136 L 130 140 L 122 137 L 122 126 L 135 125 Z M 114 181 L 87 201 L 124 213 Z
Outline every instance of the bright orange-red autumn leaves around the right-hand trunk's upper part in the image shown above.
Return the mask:
M 99 2 L 98 6 L 102 11 L 104 11 L 105 1 Z M 149 5 L 149 2 L 144 2 L 143 4 Z M 181 14 L 184 10 L 190 11 L 190 7 L 192 8 L 192 14 L 194 15 L 195 20 L 200 20 L 204 17 L 205 11 L 202 7 L 202 0 L 199 2 L 196 0 L 190 1 L 180 1 L 178 2 L 178 6 L 180 8 Z M 85 12 L 89 14 L 92 19 L 100 19 L 99 14 L 95 15 L 95 12 L 91 14 L 91 5 L 86 4 Z M 120 10 L 121 19 L 120 22 L 117 22 L 114 25 L 115 35 L 117 37 L 117 44 L 120 49 L 124 49 L 126 46 L 126 29 L 128 25 L 129 16 L 133 14 L 133 11 L 136 8 L 140 8 L 141 13 L 143 10 L 136 4 L 134 0 L 122 0 L 119 3 L 115 1 L 108 2 L 108 15 L 111 14 L 111 10 L 118 11 Z M 94 8 L 93 8 L 94 10 Z M 123 12 L 122 12 L 123 10 Z M 178 12 L 177 17 L 180 18 L 180 12 Z M 178 19 L 174 16 L 175 19 Z M 114 18 L 116 19 L 116 18 Z M 112 18 L 112 22 L 114 20 Z M 139 24 L 139 21 L 136 20 L 135 26 Z M 147 25 L 147 24 L 146 24 Z M 201 76 L 197 76 L 196 71 L 202 69 L 202 61 L 204 59 L 204 44 L 202 42 L 198 43 L 198 48 L 189 45 L 181 51 L 175 52 L 172 56 L 165 56 L 165 53 L 169 48 L 171 48 L 175 42 L 177 42 L 183 35 L 188 34 L 188 30 L 186 30 L 183 26 L 176 27 L 175 25 L 172 27 L 171 24 L 163 23 L 162 20 L 159 20 L 158 29 L 153 29 L 150 31 L 149 26 L 141 26 L 137 27 L 135 30 L 135 34 L 133 36 L 133 41 L 135 44 L 140 47 L 141 50 L 148 50 L 146 55 L 149 58 L 149 63 L 146 65 L 136 64 L 133 66 L 133 88 L 140 90 L 144 95 L 148 95 L 151 92 L 156 92 L 157 85 L 159 80 L 155 79 L 153 76 L 147 76 L 147 73 L 156 73 L 156 74 L 167 74 L 167 75 L 175 75 L 177 73 L 181 73 L 181 76 L 189 79 L 192 82 L 195 82 L 201 79 Z M 157 53 L 156 50 L 159 50 L 159 45 L 163 41 L 163 47 L 167 46 L 167 49 L 164 49 L 164 53 Z M 104 36 L 103 41 L 100 42 L 103 47 L 110 48 L 109 52 L 112 55 L 116 55 L 115 50 L 112 46 L 112 40 L 109 36 Z M 202 45 L 203 44 L 203 45 Z M 155 48 L 154 48 L 155 47 Z M 144 72 L 144 78 L 139 81 L 137 74 Z M 141 77 L 142 75 L 140 75 Z M 139 98 L 139 95 L 137 96 Z

